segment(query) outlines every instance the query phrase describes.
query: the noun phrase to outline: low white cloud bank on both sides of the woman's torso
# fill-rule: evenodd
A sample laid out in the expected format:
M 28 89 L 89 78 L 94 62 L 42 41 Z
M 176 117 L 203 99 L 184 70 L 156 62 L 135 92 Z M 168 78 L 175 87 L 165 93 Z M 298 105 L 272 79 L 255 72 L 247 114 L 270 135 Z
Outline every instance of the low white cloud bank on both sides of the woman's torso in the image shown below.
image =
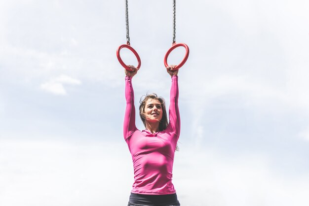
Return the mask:
M 2 139 L 0 158 L 3 206 L 120 206 L 133 183 L 124 141 Z M 257 154 L 183 145 L 175 155 L 173 183 L 184 206 L 308 206 L 308 182 L 308 174 L 286 176 Z

